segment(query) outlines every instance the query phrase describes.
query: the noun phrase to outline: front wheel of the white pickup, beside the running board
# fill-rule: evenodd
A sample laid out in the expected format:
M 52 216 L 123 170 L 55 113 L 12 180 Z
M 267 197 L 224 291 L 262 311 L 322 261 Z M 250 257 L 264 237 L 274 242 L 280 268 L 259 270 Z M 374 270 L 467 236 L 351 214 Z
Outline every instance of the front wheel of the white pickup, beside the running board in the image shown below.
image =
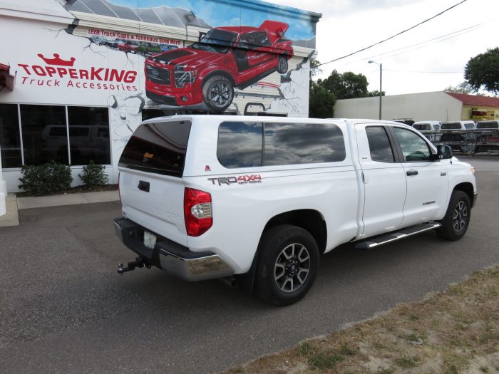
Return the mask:
M 447 212 L 441 220 L 442 227 L 437 234 L 442 239 L 459 240 L 463 237 L 471 219 L 470 198 L 463 191 L 454 191 L 451 194 Z

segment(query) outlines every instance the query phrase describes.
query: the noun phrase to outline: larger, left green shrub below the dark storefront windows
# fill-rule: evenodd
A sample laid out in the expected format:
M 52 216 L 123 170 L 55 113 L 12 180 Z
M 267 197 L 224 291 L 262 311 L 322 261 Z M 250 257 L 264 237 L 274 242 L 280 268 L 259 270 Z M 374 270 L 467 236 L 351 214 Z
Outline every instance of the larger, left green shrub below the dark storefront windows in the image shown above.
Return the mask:
M 41 196 L 67 191 L 73 177 L 68 165 L 51 161 L 43 165 L 23 165 L 19 182 L 21 185 L 18 187 L 28 194 Z

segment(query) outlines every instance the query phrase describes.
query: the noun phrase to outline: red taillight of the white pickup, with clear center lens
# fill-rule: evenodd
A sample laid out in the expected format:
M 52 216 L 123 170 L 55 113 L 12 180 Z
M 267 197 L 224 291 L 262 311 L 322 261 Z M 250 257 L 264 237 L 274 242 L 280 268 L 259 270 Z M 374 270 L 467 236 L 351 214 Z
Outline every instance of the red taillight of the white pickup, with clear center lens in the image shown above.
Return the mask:
M 199 237 L 212 227 L 212 195 L 199 189 L 185 188 L 185 229 L 190 237 Z

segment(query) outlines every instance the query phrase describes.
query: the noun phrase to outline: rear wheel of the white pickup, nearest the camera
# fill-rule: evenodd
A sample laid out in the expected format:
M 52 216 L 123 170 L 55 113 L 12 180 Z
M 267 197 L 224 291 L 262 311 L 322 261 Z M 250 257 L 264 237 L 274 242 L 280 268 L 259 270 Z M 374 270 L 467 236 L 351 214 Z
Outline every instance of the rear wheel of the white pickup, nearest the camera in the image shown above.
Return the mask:
M 271 227 L 258 246 L 255 292 L 274 305 L 296 303 L 314 284 L 318 268 L 319 249 L 312 234 L 289 224 Z

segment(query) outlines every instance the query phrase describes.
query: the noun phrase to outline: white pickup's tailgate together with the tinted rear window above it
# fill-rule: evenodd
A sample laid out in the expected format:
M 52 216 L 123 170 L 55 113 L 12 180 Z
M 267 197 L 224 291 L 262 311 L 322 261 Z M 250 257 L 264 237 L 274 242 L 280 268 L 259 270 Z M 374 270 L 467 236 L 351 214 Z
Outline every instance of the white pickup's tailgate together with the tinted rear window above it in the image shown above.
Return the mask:
M 118 162 L 123 215 L 184 246 L 182 174 L 190 125 L 174 118 L 140 125 Z

